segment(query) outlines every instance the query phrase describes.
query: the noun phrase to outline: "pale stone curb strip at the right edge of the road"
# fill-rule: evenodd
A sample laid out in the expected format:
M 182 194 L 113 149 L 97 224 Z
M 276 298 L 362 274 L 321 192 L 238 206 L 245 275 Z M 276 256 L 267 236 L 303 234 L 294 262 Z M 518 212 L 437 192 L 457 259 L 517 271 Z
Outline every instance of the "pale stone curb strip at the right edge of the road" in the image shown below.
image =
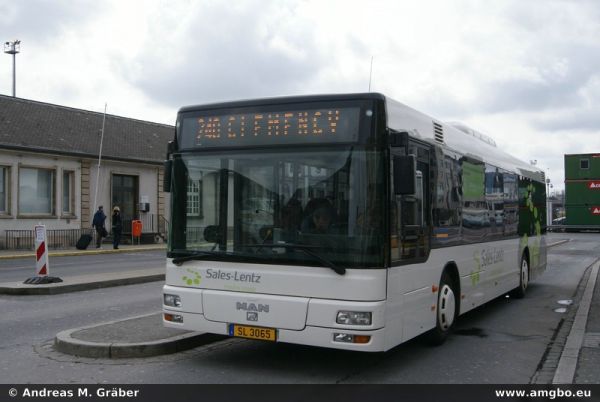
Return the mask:
M 567 337 L 567 342 L 560 355 L 560 360 L 558 361 L 558 367 L 554 373 L 552 384 L 573 383 L 575 369 L 577 368 L 577 360 L 579 359 L 579 351 L 581 350 L 585 336 L 585 327 L 587 325 L 587 318 L 592 304 L 592 297 L 594 296 L 594 286 L 596 285 L 599 267 L 600 260 L 596 260 L 585 286 L 583 297 L 577 308 L 575 321 L 573 322 L 573 326 Z

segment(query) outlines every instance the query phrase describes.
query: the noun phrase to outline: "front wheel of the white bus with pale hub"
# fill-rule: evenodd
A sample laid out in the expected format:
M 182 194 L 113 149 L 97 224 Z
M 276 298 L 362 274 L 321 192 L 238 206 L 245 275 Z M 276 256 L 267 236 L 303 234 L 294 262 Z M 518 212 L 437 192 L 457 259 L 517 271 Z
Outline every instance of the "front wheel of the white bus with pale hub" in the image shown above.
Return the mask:
M 458 293 L 447 271 L 440 279 L 435 317 L 435 328 L 429 331 L 428 341 L 432 345 L 441 345 L 452 332 L 458 318 Z

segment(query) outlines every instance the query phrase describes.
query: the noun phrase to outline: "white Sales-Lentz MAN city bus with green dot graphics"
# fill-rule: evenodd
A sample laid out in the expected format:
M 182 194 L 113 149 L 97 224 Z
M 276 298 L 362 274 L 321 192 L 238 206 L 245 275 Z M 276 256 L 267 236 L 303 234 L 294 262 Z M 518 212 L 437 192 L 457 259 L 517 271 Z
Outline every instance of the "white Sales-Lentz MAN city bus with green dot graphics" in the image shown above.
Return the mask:
M 386 351 L 523 297 L 544 174 L 382 94 L 183 107 L 165 162 L 163 324 Z

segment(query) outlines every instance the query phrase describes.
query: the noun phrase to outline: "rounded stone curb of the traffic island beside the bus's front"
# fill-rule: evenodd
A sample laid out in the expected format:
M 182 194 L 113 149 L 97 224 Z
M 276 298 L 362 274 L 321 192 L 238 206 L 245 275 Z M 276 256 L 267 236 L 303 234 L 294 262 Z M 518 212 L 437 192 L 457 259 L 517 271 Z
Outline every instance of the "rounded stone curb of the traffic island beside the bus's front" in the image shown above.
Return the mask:
M 156 341 L 139 343 L 89 342 L 73 338 L 72 336 L 74 333 L 82 330 L 93 329 L 104 325 L 119 324 L 124 321 L 145 318 L 155 314 L 156 313 L 62 331 L 54 338 L 54 347 L 59 352 L 74 356 L 119 359 L 172 354 L 223 339 L 222 336 L 198 332 L 188 332 Z

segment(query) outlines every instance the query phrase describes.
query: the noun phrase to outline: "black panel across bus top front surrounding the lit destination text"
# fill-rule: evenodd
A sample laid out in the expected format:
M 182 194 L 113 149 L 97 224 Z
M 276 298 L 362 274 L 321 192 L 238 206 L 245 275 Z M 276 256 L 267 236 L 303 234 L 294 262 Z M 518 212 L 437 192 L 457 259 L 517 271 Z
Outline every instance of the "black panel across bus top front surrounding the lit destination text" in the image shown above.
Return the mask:
M 371 144 L 378 143 L 374 135 L 377 102 L 370 99 L 321 100 L 311 102 L 274 103 L 236 102 L 206 106 L 201 109 L 184 108 L 177 119 L 177 144 L 181 151 L 209 149 L 254 149 L 257 147 Z M 341 113 L 340 121 L 329 113 Z M 286 114 L 291 114 L 286 121 Z M 302 114 L 301 117 L 298 117 Z M 317 114 L 320 114 L 318 117 Z M 261 119 L 256 117 L 260 116 Z M 245 135 L 240 130 L 245 117 Z M 215 120 L 213 120 L 215 119 Z M 229 120 L 233 120 L 230 122 Z M 304 119 L 304 120 L 302 120 Z M 199 120 L 205 127 L 200 129 Z M 332 133 L 331 124 L 337 124 Z M 233 124 L 233 127 L 231 127 Z M 260 126 L 258 133 L 255 125 Z M 302 127 L 298 127 L 298 126 Z M 287 130 L 289 128 L 289 130 Z M 350 132 L 348 132 L 349 130 Z M 287 132 L 289 131 L 289 132 Z M 211 138 L 209 138 L 211 137 Z M 380 139 L 379 139 L 380 140 Z

